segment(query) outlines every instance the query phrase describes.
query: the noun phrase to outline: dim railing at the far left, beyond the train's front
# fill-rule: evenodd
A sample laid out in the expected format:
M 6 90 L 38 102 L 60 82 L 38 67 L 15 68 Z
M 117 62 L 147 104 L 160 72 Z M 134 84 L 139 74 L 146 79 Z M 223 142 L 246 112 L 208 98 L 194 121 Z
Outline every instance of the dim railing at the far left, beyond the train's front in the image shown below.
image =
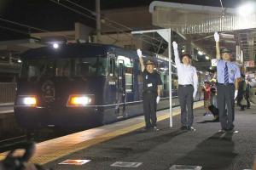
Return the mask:
M 0 104 L 15 102 L 16 87 L 15 82 L 0 82 Z

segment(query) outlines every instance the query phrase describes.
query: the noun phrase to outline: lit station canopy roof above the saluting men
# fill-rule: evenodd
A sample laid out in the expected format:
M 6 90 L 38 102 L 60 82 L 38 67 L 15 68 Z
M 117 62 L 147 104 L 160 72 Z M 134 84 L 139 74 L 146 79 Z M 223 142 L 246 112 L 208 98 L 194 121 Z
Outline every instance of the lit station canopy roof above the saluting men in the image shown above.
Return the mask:
M 255 5 L 252 4 L 252 5 Z M 220 46 L 236 54 L 236 45 L 243 51 L 244 60 L 256 54 L 256 12 L 242 16 L 237 8 L 218 8 L 183 3 L 154 1 L 149 6 L 153 25 L 171 28 L 187 37 L 207 54 L 215 56 L 213 34 L 220 33 Z

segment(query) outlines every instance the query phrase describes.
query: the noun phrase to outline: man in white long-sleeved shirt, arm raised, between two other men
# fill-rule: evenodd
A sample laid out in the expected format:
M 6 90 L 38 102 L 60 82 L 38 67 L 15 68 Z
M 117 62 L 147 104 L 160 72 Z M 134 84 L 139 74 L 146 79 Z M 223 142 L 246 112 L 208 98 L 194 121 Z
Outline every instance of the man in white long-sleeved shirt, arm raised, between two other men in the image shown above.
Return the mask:
M 198 84 L 196 69 L 190 64 L 191 57 L 189 54 L 183 54 L 181 62 L 177 51 L 177 42 L 172 42 L 172 46 L 174 50 L 175 64 L 177 66 L 177 96 L 181 108 L 181 129 L 195 131 L 192 124 L 194 120 L 193 102 Z

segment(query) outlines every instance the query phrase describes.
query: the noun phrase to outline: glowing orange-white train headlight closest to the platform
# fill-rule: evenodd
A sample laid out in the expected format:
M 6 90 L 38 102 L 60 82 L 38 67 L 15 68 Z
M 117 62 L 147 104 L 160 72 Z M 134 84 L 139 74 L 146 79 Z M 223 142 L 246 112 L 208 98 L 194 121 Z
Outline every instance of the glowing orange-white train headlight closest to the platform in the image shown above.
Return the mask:
M 92 103 L 93 95 L 86 94 L 72 94 L 69 95 L 67 107 L 79 107 L 90 105 Z

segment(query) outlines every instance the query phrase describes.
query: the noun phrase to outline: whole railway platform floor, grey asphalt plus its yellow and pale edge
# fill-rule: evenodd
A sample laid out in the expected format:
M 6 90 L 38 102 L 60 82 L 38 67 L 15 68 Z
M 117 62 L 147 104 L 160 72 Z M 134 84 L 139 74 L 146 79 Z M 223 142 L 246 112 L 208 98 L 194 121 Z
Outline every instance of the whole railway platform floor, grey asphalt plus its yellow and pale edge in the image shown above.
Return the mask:
M 219 122 L 203 113 L 202 102 L 195 103 L 195 131 L 179 129 L 177 107 L 173 127 L 169 127 L 169 111 L 158 112 L 156 132 L 143 132 L 143 116 L 137 116 L 51 139 L 37 144 L 32 162 L 61 170 L 251 169 L 256 153 L 255 105 L 246 111 L 236 108 L 232 133 L 218 132 Z

